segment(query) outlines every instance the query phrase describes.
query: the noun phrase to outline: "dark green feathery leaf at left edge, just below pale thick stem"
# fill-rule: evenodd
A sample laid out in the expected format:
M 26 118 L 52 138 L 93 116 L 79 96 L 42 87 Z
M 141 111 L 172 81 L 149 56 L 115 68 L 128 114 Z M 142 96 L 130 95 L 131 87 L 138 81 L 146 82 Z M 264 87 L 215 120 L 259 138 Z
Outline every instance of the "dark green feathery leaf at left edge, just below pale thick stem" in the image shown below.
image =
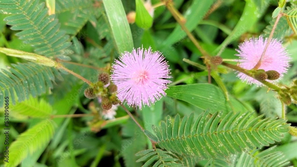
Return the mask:
M 24 101 L 32 94 L 33 97 L 45 93 L 53 88 L 55 76 L 63 79 L 58 70 L 33 63 L 12 64 L 10 71 L 2 69 L 0 73 L 0 107 L 4 104 L 4 97 L 9 96 L 12 104 L 18 100 Z

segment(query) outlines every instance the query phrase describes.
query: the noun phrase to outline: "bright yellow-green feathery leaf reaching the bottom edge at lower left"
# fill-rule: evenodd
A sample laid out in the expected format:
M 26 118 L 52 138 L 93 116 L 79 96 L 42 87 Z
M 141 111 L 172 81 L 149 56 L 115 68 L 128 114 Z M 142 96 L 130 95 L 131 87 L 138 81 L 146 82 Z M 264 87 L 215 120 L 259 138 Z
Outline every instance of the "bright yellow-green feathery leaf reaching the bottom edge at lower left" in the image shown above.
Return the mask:
M 29 154 L 33 154 L 47 145 L 54 135 L 54 124 L 51 120 L 44 120 L 18 136 L 9 149 L 11 157 L 6 167 L 17 166 Z

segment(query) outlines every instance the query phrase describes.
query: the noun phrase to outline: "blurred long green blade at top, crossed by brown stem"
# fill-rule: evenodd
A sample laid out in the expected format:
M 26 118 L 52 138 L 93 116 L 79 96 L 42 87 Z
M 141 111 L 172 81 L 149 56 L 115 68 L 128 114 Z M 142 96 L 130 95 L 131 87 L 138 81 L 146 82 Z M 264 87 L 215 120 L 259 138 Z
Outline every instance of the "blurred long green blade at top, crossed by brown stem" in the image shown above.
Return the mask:
M 192 2 L 191 6 L 184 13 L 184 18 L 187 20 L 185 26 L 189 31 L 194 30 L 213 3 L 214 0 L 194 0 Z M 168 47 L 169 45 L 180 41 L 185 36 L 186 33 L 181 30 L 181 26 L 178 25 L 164 41 L 164 45 L 165 47 Z

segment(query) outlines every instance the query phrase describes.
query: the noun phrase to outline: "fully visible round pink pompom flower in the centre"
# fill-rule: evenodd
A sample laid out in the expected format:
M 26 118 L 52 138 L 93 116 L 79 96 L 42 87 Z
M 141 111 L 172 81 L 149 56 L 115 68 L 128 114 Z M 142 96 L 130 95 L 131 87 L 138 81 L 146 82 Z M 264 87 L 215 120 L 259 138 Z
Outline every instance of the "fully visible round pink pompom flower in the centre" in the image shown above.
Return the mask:
M 125 52 L 116 60 L 111 70 L 111 81 L 117 85 L 117 96 L 120 101 L 126 101 L 129 106 L 154 104 L 166 93 L 167 84 L 171 81 L 163 79 L 170 78 L 169 65 L 159 51 L 152 52 L 138 48 L 132 53 Z

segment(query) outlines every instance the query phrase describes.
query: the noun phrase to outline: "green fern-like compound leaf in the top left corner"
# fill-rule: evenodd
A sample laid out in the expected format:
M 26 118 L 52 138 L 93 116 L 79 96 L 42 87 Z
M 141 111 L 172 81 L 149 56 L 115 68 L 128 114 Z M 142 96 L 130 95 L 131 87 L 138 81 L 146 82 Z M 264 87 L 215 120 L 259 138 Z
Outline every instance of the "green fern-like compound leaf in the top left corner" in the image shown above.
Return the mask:
M 48 9 L 39 0 L 10 0 L 0 2 L 0 13 L 8 14 L 4 20 L 12 30 L 21 30 L 16 35 L 35 52 L 47 57 L 65 57 L 72 51 L 65 31 L 59 31 L 60 23 L 55 15 L 48 15 Z

